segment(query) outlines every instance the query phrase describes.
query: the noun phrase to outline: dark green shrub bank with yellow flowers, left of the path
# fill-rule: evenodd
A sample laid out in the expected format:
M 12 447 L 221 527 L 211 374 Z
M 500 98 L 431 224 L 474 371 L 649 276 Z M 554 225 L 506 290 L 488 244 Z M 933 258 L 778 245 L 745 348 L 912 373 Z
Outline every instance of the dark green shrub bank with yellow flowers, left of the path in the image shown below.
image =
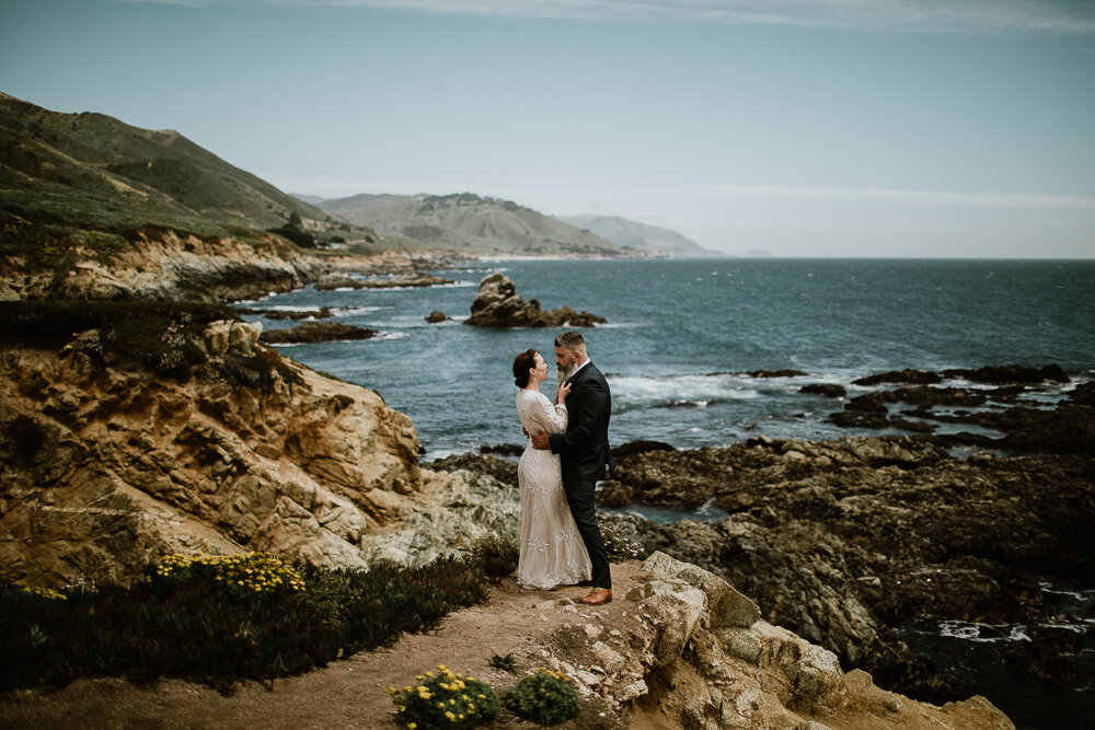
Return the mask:
M 0 692 L 88 674 L 268 680 L 430 628 L 485 598 L 482 571 L 456 558 L 365 571 L 256 553 L 168 556 L 130 587 L 0 584 Z

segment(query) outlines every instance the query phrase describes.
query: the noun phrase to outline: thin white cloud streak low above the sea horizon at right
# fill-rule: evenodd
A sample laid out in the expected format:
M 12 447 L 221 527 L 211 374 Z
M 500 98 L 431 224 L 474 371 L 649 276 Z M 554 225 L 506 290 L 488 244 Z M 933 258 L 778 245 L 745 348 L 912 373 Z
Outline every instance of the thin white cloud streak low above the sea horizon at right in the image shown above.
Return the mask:
M 930 190 L 887 190 L 875 187 L 832 188 L 780 185 L 691 185 L 687 187 L 687 192 L 704 197 L 763 200 L 884 202 L 959 208 L 1095 210 L 1095 198 L 1080 195 L 1046 195 L 1039 193 L 941 193 Z

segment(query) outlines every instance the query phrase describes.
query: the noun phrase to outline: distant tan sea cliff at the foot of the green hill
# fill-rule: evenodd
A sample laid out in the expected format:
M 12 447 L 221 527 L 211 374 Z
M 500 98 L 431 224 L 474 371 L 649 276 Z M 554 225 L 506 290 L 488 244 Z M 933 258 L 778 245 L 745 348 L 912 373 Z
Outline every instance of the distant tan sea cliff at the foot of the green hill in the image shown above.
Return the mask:
M 73 246 L 70 255 L 74 263 L 56 269 L 19 257 L 4 262 L 0 299 L 230 301 L 289 291 L 330 270 L 269 234 L 244 241 L 157 229 L 113 244 L 108 255 L 92 244 Z

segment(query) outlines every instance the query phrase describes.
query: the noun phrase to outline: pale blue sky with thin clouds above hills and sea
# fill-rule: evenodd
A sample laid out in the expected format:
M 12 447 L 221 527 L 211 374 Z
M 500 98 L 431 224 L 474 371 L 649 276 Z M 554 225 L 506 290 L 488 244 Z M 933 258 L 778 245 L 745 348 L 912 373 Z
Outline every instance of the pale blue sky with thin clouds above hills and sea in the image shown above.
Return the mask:
M 1092 0 L 0 0 L 0 91 L 293 194 L 1095 258 Z

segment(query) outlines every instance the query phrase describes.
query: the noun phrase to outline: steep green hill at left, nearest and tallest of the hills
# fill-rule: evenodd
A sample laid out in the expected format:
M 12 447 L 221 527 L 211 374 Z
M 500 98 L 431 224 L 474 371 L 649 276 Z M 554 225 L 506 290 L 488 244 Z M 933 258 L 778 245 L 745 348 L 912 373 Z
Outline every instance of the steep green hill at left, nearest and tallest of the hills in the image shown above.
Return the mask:
M 177 131 L 103 114 L 62 114 L 0 93 L 0 211 L 31 223 L 104 229 L 158 224 L 199 234 L 264 231 L 300 219 L 345 221 L 233 167 Z

